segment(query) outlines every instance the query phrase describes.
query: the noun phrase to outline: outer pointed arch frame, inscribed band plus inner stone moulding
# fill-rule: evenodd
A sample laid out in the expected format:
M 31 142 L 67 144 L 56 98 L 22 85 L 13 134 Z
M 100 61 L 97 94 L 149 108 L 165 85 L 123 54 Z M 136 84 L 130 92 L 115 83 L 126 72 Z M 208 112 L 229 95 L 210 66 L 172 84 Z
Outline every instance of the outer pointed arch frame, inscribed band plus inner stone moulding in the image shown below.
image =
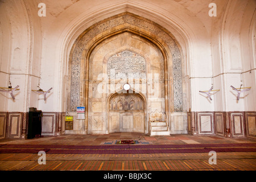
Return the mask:
M 170 32 L 148 19 L 123 13 L 102 20 L 85 30 L 72 47 L 69 64 L 71 81 L 69 111 L 86 107 L 85 130 L 88 127 L 89 58 L 104 40 L 131 32 L 155 44 L 164 57 L 164 95 L 167 119 L 170 113 L 183 111 L 182 69 L 179 44 Z M 85 68 L 85 69 L 84 69 Z

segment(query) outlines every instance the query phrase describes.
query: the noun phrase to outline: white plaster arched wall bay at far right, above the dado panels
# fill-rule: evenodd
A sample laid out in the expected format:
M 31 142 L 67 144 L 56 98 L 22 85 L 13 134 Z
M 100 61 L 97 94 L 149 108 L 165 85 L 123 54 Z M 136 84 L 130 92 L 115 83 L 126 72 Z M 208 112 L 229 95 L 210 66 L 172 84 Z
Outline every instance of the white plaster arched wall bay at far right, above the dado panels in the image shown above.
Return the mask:
M 227 3 L 222 22 L 220 22 L 219 34 L 213 36 L 213 39 L 216 37 L 218 40 L 218 43 L 217 41 L 214 43 L 213 51 L 217 59 L 214 61 L 216 63 L 214 82 L 222 93 L 222 103 L 219 102 L 215 110 L 218 110 L 218 107 L 223 111 L 255 110 L 255 71 L 250 71 L 255 69 L 255 49 L 249 46 L 253 42 L 252 29 L 255 27 L 253 8 L 255 9 L 255 1 Z M 220 56 L 219 59 L 217 55 Z M 230 85 L 240 88 L 241 84 L 242 87 L 251 86 L 252 89 L 242 93 L 240 100 L 237 101 L 237 93 L 230 88 Z

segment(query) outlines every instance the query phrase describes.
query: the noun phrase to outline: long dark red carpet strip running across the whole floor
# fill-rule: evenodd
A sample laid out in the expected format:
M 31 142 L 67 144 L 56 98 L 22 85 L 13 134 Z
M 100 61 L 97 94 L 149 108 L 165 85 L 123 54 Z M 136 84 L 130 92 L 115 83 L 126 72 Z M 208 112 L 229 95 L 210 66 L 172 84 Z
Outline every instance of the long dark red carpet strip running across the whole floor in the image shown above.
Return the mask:
M 0 146 L 0 154 L 32 153 L 46 151 L 47 154 L 167 154 L 216 152 L 256 152 L 255 143 L 226 144 L 163 144 L 163 145 L 37 145 L 5 144 Z

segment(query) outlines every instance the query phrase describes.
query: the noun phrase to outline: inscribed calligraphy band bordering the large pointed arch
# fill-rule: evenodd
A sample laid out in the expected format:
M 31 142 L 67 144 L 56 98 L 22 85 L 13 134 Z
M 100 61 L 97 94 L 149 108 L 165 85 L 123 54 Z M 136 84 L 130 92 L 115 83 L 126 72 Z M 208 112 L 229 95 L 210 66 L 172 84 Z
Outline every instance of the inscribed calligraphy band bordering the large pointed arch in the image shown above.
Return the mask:
M 94 24 L 85 31 L 82 36 L 77 39 L 75 48 L 73 49 L 72 55 L 72 66 L 71 66 L 71 97 L 70 97 L 70 111 L 76 111 L 76 107 L 80 104 L 80 62 L 82 59 L 82 52 L 88 43 L 96 38 L 99 34 L 104 35 L 104 32 L 112 30 L 112 28 L 123 26 L 137 28 L 138 30 L 148 32 L 148 34 L 154 35 L 158 40 L 161 40 L 170 49 L 171 55 L 168 59 L 172 59 L 173 68 L 173 92 L 174 92 L 174 111 L 183 110 L 183 90 L 182 90 L 182 72 L 181 72 L 181 56 L 179 48 L 177 47 L 170 34 L 160 28 L 158 24 L 152 23 L 149 20 L 138 18 L 135 15 L 123 14 L 103 20 L 102 22 Z M 149 36 L 149 35 L 148 35 Z M 151 35 L 150 35 L 151 36 Z M 114 58 L 113 58 L 114 60 Z M 143 66 L 141 68 L 143 71 Z

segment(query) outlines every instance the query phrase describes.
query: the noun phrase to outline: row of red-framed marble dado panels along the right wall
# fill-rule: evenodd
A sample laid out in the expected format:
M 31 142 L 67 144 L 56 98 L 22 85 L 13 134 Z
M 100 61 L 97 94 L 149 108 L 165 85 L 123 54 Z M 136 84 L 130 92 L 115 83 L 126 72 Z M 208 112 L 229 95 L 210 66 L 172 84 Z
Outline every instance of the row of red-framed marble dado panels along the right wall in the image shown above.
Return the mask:
M 216 134 L 226 138 L 256 138 L 256 113 L 254 111 L 193 113 L 195 112 L 187 113 L 189 134 Z

